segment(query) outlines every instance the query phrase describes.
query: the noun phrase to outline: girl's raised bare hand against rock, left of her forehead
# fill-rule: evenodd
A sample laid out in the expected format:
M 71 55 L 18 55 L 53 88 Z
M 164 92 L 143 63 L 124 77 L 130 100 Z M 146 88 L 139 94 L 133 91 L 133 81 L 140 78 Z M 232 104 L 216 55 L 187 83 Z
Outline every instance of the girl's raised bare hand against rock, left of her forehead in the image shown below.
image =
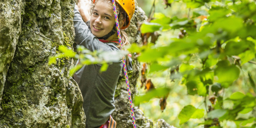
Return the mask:
M 87 22 L 90 20 L 91 15 L 89 14 L 89 11 L 91 9 L 91 0 L 78 0 L 77 7 L 80 15 L 82 16 L 82 19 L 84 22 Z

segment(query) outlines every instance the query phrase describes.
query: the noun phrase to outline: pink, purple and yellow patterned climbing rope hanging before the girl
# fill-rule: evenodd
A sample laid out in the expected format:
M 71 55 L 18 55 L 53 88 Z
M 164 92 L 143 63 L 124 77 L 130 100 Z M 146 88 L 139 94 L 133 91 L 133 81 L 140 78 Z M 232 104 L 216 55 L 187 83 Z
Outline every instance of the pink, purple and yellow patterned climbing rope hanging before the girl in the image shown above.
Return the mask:
M 121 34 L 120 34 L 120 28 L 119 28 L 119 23 L 118 23 L 118 17 L 117 17 L 117 11 L 116 11 L 116 2 L 115 0 L 112 0 L 113 2 L 113 8 L 114 8 L 114 13 L 115 13 L 115 19 L 116 19 L 116 27 L 117 27 L 117 34 L 118 34 L 118 41 L 119 41 L 119 45 L 121 47 L 121 49 L 123 48 L 123 44 L 121 41 Z M 132 106 L 132 97 L 131 97 L 131 92 L 130 92 L 130 86 L 129 86 L 129 81 L 128 81 L 128 75 L 127 75 L 127 70 L 126 70 L 126 64 L 125 64 L 125 59 L 123 57 L 123 68 L 124 68 L 124 75 L 125 75 L 125 82 L 126 82 L 126 86 L 127 86 L 127 91 L 128 91 L 128 95 L 129 95 L 129 101 L 130 101 L 130 110 L 131 110 L 131 114 L 132 114 L 132 123 L 133 123 L 133 127 L 136 127 L 136 122 L 135 122 L 135 116 L 134 116 L 134 111 L 133 111 L 133 106 Z

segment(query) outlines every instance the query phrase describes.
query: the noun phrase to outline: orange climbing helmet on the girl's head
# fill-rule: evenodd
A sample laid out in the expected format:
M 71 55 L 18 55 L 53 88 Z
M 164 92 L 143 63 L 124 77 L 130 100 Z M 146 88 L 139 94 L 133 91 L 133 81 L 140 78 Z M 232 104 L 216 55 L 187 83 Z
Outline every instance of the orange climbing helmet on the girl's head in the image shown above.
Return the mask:
M 130 25 L 130 21 L 132 19 L 132 16 L 135 11 L 135 2 L 134 0 L 115 0 L 126 12 L 127 15 L 125 15 L 126 23 L 124 24 L 121 29 L 126 29 Z M 93 0 L 93 3 L 95 0 Z

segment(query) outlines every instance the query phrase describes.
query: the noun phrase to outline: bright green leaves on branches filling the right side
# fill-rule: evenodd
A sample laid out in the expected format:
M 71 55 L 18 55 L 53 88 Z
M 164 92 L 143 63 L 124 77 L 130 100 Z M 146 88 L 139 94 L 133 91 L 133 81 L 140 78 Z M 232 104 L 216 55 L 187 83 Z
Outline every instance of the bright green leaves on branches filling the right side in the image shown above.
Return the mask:
M 189 95 L 205 97 L 204 110 L 192 105 L 181 110 L 178 116 L 180 124 L 191 118 L 204 118 L 205 121 L 199 125 L 205 128 L 223 127 L 220 125 L 222 121 L 233 121 L 238 128 L 255 127 L 256 85 L 250 72 L 247 73 L 248 87 L 254 92 L 243 94 L 241 90 L 225 99 L 222 95 L 225 88 L 238 86 L 235 81 L 244 72 L 245 63 L 256 64 L 256 2 L 164 0 L 167 6 L 174 2 L 186 3 L 190 15 L 179 19 L 155 13 L 150 21 L 141 25 L 140 30 L 141 33 L 178 30 L 179 37 L 167 37 L 168 43 L 157 42 L 164 45 L 154 44 L 155 40 L 144 46 L 132 44 L 129 51 L 138 53 L 137 59 L 148 63 L 148 72 L 168 70 L 170 79 L 180 79 Z M 135 99 L 135 103 L 149 101 L 158 94 L 141 96 Z M 210 97 L 211 104 L 207 104 L 207 97 Z M 232 101 L 232 108 L 225 108 L 225 101 Z M 247 119 L 238 116 L 249 112 L 252 114 Z

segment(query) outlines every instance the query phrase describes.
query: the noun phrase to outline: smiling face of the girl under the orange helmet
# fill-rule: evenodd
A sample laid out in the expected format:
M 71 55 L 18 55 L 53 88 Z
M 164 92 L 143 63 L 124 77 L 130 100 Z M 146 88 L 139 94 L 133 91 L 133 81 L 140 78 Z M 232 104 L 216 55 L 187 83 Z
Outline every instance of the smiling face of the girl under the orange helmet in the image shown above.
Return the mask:
M 107 2 L 97 2 L 91 16 L 90 27 L 96 37 L 107 35 L 114 27 L 115 16 L 113 7 Z

